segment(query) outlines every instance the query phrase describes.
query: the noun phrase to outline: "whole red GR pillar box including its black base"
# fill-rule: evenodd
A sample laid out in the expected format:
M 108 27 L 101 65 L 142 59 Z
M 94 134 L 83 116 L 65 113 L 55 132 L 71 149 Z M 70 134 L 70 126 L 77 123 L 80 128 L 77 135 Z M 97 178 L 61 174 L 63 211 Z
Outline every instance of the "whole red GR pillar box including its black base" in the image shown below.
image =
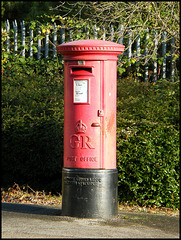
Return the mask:
M 117 214 L 117 56 L 124 46 L 79 40 L 57 46 L 64 56 L 62 213 Z

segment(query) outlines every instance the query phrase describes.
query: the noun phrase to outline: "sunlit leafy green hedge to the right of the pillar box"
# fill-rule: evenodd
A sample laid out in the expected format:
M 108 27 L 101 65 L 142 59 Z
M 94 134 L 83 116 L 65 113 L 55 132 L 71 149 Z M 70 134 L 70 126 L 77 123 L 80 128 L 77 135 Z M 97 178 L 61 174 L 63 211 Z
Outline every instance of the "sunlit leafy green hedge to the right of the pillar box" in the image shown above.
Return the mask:
M 179 207 L 179 83 L 118 83 L 119 200 Z

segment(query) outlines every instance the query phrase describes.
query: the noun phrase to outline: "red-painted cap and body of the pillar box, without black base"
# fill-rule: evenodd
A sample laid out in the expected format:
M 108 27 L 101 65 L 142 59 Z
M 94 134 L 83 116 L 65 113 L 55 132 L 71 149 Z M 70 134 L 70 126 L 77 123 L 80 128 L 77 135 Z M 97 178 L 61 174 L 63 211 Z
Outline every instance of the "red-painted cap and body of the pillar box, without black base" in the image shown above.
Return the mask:
M 114 169 L 117 55 L 124 46 L 80 40 L 61 44 L 57 50 L 66 60 L 63 167 Z

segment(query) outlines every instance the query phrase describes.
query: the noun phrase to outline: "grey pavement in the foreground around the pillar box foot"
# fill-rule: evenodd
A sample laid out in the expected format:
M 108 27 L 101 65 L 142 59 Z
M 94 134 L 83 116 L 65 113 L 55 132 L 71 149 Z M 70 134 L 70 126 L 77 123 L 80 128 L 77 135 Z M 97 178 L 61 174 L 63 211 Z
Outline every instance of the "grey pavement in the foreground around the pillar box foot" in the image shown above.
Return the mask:
M 61 216 L 61 207 L 2 203 L 1 238 L 179 238 L 179 217 L 119 211 L 111 219 Z

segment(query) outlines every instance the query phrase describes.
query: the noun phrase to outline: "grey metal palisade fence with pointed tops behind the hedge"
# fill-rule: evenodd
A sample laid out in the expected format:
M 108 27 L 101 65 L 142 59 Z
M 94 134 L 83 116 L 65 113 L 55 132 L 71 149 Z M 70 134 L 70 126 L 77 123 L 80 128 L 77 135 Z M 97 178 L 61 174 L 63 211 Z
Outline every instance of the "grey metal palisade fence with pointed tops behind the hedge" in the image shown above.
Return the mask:
M 37 26 L 36 29 L 31 29 L 30 27 L 26 26 L 25 22 L 22 21 L 20 23 L 20 31 L 18 33 L 18 25 L 17 21 L 14 20 L 12 22 L 13 25 L 13 40 L 10 38 L 10 23 L 9 20 L 5 21 L 5 29 L 7 32 L 7 38 L 6 38 L 6 51 L 10 52 L 11 46 L 13 46 L 13 51 L 15 52 L 15 55 L 17 54 L 17 51 L 21 49 L 21 55 L 24 57 L 30 56 L 30 58 L 37 58 L 40 60 L 41 58 L 56 58 L 57 51 L 56 51 L 56 45 L 65 43 L 66 41 L 73 41 L 77 40 L 77 36 L 83 36 L 85 39 L 93 38 L 93 39 L 102 39 L 102 40 L 109 40 L 109 41 L 116 41 L 119 44 L 125 45 L 125 52 L 123 53 L 123 56 L 127 56 L 128 60 L 130 61 L 131 58 L 135 58 L 135 65 L 134 63 L 130 64 L 128 66 L 128 70 L 132 67 L 132 65 L 135 66 L 135 69 L 137 71 L 137 80 L 140 80 L 141 74 L 139 74 L 138 71 L 140 71 L 140 66 L 143 64 L 143 59 L 145 59 L 145 62 L 142 67 L 142 71 L 144 71 L 143 77 L 144 81 L 149 81 L 149 73 L 152 72 L 152 81 L 155 83 L 158 79 L 158 57 L 163 57 L 163 64 L 162 64 L 162 74 L 161 77 L 163 79 L 166 79 L 166 73 L 167 73 L 167 33 L 163 32 L 162 34 L 162 43 L 158 41 L 158 32 L 155 30 L 151 34 L 151 30 L 148 28 L 145 30 L 146 35 L 145 39 L 143 39 L 143 36 L 140 36 L 139 29 L 134 30 L 131 27 L 124 29 L 123 25 L 119 25 L 116 29 L 111 25 L 109 29 L 106 29 L 104 26 L 99 29 L 96 24 L 94 24 L 91 27 L 85 27 L 82 29 L 74 29 L 74 27 L 66 28 L 64 24 L 61 24 L 61 29 L 58 32 L 56 23 L 53 24 L 52 31 L 46 31 L 44 35 L 44 39 L 42 40 L 43 33 L 41 32 L 41 29 L 39 26 Z M 77 35 L 74 34 L 75 31 L 77 31 Z M 117 31 L 117 32 L 116 32 Z M 26 34 L 26 32 L 28 32 Z M 83 35 L 84 33 L 84 35 Z M 107 33 L 107 34 L 106 34 Z M 117 35 L 116 35 L 117 34 Z M 27 35 L 27 37 L 26 37 Z M 58 43 L 58 37 L 60 43 Z M 34 37 L 37 37 L 37 40 L 34 41 Z M 153 56 L 154 58 L 148 58 L 149 55 L 149 49 L 148 49 L 148 40 L 153 41 L 154 46 L 154 52 Z M 19 40 L 18 40 L 19 39 Z M 28 40 L 27 40 L 28 39 Z M 50 41 L 52 39 L 52 41 Z M 18 41 L 21 42 L 21 46 L 18 46 Z M 144 49 L 141 47 L 141 43 L 144 43 Z M 175 69 L 176 69 L 176 61 L 175 61 L 175 48 L 174 48 L 175 39 L 172 37 L 171 39 L 171 50 L 170 50 L 170 79 L 171 81 L 174 81 L 175 79 Z M 158 56 L 158 45 L 161 44 L 161 55 Z M 29 49 L 28 49 L 28 47 Z M 24 48 L 23 48 L 24 47 Z M 25 48 L 26 47 L 26 48 Z M 34 48 L 37 48 L 37 51 L 34 52 Z M 28 49 L 28 51 L 26 50 Z M 26 54 L 26 52 L 27 54 Z M 51 54 L 50 54 L 51 53 Z M 51 55 L 51 56 L 50 56 Z M 147 58 L 146 58 L 147 57 Z M 150 66 L 152 69 L 150 69 Z

